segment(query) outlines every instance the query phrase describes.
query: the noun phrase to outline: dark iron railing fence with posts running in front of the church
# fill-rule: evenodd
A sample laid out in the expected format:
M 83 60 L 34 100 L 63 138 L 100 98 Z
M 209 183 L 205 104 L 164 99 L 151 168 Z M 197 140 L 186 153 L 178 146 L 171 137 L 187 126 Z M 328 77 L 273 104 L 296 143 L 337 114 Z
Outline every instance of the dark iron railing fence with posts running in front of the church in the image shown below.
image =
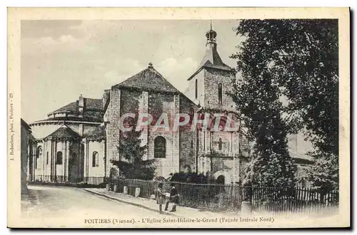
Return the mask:
M 158 181 L 141 179 L 111 179 L 111 184 L 119 186 L 119 192 L 128 187 L 128 193 L 135 194 L 141 189 L 139 197 L 150 199 L 159 184 Z M 164 191 L 170 192 L 174 183 L 183 207 L 219 211 L 240 211 L 241 202 L 249 201 L 255 211 L 313 212 L 338 206 L 338 191 L 321 192 L 318 189 L 279 189 L 273 187 L 246 187 L 237 184 L 189 184 L 165 182 Z

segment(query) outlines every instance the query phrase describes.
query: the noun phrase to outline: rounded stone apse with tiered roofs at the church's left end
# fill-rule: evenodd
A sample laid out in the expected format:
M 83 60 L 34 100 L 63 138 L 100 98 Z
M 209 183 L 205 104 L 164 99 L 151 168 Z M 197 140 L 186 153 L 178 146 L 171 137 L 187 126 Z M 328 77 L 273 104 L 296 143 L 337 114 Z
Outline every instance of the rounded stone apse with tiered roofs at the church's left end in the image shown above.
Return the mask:
M 102 139 L 96 137 L 100 135 L 98 129 L 102 122 L 102 100 L 81 95 L 79 100 L 49 113 L 46 120 L 31 123 L 29 180 L 88 181 L 84 177 L 89 177 L 89 171 L 100 171 L 101 174 L 93 174 L 103 177 L 104 150 Z M 89 164 L 89 155 L 91 158 L 93 155 L 95 164 Z M 86 164 L 91 167 L 85 167 Z

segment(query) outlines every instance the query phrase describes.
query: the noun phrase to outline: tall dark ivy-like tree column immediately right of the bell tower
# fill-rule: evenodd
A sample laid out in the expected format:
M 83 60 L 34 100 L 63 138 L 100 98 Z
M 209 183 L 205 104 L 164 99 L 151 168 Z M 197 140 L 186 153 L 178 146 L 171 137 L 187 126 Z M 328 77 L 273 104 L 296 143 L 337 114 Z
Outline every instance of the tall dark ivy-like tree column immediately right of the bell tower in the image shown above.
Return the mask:
M 257 58 L 246 66 L 263 65 Z M 246 167 L 246 182 L 264 187 L 294 187 L 296 166 L 288 154 L 286 124 L 283 122 L 278 87 L 268 73 L 254 72 L 241 83 L 233 82 L 233 101 L 254 140 L 253 156 Z

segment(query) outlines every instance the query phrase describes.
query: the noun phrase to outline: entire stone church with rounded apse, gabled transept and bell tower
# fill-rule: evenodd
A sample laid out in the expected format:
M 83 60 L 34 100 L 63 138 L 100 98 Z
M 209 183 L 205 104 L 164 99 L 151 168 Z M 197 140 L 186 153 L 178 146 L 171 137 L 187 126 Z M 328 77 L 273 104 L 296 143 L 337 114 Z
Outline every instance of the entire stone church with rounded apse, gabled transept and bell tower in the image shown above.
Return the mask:
M 156 123 L 165 113 L 171 127 L 180 114 L 190 120 L 178 130 L 142 128 L 145 158 L 156 160 L 157 176 L 191 171 L 209 174 L 220 183 L 241 182 L 251 146 L 237 129 L 225 128 L 232 120 L 238 123 L 236 106 L 226 93 L 236 73 L 219 56 L 216 36 L 212 29 L 206 33 L 206 53 L 187 78 L 185 93 L 149 63 L 144 71 L 104 90 L 102 99 L 80 96 L 46 120 L 31 123 L 29 180 L 100 184 L 110 175 L 110 160 L 121 159 L 123 118 L 128 113 L 149 114 L 148 122 Z M 205 117 L 211 120 L 207 127 L 199 124 Z M 309 163 L 305 155 L 293 157 L 300 169 Z

